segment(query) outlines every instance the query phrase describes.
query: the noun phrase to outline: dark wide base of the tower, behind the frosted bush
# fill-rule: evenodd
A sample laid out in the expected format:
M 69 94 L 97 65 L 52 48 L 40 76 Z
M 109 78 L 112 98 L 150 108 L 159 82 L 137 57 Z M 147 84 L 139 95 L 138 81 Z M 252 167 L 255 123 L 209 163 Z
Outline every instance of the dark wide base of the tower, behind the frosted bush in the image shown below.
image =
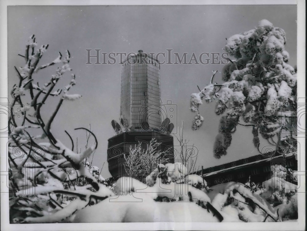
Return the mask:
M 125 158 L 124 154 L 129 155 L 130 147 L 134 147 L 141 142 L 142 148 L 146 149 L 147 144 L 152 139 L 161 143 L 159 149 L 166 152 L 166 156 L 170 158 L 169 163 L 174 162 L 174 142 L 170 134 L 159 133 L 153 130 L 144 131 L 126 131 L 119 133 L 108 139 L 107 161 L 109 164 L 109 172 L 112 177 L 122 177 L 125 175 Z

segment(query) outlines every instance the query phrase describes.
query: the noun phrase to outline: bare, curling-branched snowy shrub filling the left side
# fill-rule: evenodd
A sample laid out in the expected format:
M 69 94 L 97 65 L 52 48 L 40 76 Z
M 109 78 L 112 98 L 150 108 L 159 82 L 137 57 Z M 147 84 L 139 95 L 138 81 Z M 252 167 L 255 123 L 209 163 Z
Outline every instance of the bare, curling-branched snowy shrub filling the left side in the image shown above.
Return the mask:
M 72 141 L 68 148 L 52 133 L 52 123 L 65 100 L 76 100 L 79 94 L 68 94 L 76 84 L 75 75 L 68 75 L 70 53 L 59 56 L 52 62 L 40 66 L 42 56 L 48 45 L 37 46 L 34 35 L 29 38 L 25 47 L 25 66 L 15 67 L 19 82 L 14 85 L 11 96 L 13 104 L 9 115 L 9 195 L 11 223 L 46 223 L 67 222 L 71 215 L 92 203 L 114 195 L 99 180 L 97 167 L 90 168 L 86 158 L 97 148 L 97 139 L 88 129 L 95 142 L 80 153 L 74 151 Z M 54 74 L 48 82 L 41 82 L 42 69 L 52 66 Z M 50 68 L 49 68 L 50 69 Z M 68 82 L 65 86 L 58 83 Z M 54 109 L 48 104 L 54 97 L 58 103 Z M 21 113 L 20 113 L 21 111 Z M 63 130 L 64 132 L 64 130 Z M 85 162 L 83 162 L 85 159 Z M 84 179 L 87 184 L 77 185 L 76 181 Z M 76 197 L 71 201 L 68 197 Z

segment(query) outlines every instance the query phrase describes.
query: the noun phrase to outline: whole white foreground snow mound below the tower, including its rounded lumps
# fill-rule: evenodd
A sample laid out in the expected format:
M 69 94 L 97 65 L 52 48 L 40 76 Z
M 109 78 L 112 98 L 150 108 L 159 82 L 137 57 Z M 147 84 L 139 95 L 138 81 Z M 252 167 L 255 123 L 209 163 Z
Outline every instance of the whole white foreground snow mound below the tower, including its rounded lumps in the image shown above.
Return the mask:
M 122 177 L 115 191 L 116 196 L 78 211 L 73 222 L 239 221 L 238 217 L 217 211 L 206 193 L 189 185 L 159 182 L 148 187 L 136 179 Z M 175 202 L 163 202 L 161 198 Z

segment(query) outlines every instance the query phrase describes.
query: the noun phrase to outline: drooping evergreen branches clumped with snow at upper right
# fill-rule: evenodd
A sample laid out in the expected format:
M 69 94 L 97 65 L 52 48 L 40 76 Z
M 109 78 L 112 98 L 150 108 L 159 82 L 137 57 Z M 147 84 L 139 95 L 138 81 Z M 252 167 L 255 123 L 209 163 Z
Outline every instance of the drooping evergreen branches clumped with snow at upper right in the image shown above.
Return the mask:
M 223 67 L 223 84 L 213 82 L 215 71 L 208 86 L 191 95 L 190 109 L 196 113 L 192 129 L 199 129 L 203 123 L 198 110 L 202 100 L 212 102 L 216 98 L 215 113 L 226 113 L 225 117 L 235 123 L 232 129 L 237 124 L 242 125 L 240 119 L 243 125 L 251 126 L 257 148 L 258 133 L 277 146 L 280 145 L 281 130 L 288 131 L 292 137 L 296 132 L 292 124 L 297 120 L 291 115 L 297 104 L 297 76 L 295 69 L 287 63 L 289 53 L 285 43 L 285 31 L 266 19 L 261 20 L 256 29 L 228 38 L 224 50 L 235 59 L 229 59 Z M 277 140 L 272 141 L 274 137 Z M 219 133 L 214 156 L 226 155 L 230 142 L 230 133 Z

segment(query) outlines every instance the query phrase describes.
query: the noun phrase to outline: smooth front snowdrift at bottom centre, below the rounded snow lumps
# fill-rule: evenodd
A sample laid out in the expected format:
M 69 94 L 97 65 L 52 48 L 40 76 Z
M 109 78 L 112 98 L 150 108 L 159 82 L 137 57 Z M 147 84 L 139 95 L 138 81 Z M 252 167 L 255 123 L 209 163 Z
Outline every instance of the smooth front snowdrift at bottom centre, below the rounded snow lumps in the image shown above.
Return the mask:
M 136 197 L 139 199 L 136 200 Z M 140 201 L 142 200 L 142 201 Z M 101 211 L 107 211 L 101 213 Z M 221 212 L 222 213 L 222 212 Z M 226 214 L 227 216 L 227 214 Z M 225 216 L 225 217 L 226 217 Z M 223 221 L 239 221 L 228 216 Z M 232 218 L 232 219 L 231 219 Z M 78 211 L 73 222 L 218 222 L 207 209 L 196 203 L 157 202 L 148 194 L 110 197 Z

